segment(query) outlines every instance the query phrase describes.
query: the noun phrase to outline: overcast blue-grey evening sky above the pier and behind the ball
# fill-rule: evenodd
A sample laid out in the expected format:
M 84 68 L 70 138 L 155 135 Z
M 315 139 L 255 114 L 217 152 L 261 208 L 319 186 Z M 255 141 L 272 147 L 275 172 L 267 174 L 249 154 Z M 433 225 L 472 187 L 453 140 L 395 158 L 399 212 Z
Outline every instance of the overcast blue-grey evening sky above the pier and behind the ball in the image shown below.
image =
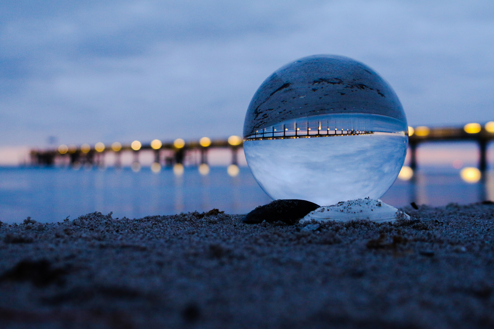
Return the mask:
M 240 135 L 280 66 L 339 54 L 409 124 L 494 120 L 494 1 L 0 2 L 0 146 Z

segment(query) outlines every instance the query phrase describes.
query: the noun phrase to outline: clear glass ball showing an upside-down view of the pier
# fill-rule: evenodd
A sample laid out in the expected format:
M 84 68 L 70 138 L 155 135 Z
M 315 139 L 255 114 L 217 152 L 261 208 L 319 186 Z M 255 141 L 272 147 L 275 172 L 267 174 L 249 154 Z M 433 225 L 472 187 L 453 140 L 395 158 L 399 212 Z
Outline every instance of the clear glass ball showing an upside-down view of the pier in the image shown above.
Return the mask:
M 407 147 L 394 90 L 343 56 L 308 56 L 278 69 L 255 92 L 244 122 L 247 164 L 274 200 L 378 199 L 398 177 Z

